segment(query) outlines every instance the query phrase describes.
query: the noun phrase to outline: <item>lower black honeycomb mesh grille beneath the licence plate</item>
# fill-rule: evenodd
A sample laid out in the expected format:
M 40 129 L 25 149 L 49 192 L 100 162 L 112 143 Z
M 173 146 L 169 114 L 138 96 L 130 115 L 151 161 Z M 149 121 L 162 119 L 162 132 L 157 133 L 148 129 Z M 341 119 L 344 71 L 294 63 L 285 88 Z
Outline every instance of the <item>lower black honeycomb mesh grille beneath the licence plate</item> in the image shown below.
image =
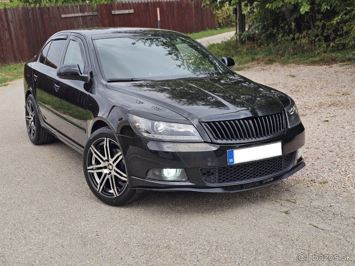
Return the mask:
M 238 184 L 277 176 L 292 166 L 295 153 L 256 162 L 221 167 L 199 168 L 208 185 Z

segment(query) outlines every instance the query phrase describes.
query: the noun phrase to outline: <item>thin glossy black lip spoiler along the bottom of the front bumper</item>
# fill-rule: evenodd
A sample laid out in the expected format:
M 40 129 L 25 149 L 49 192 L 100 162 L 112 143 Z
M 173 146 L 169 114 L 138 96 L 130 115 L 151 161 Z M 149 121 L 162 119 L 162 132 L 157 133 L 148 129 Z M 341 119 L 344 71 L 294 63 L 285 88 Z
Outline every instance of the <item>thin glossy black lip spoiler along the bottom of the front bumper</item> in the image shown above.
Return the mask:
M 288 171 L 288 172 L 286 172 L 286 173 L 284 173 L 284 174 L 282 174 L 280 176 L 273 177 L 272 181 L 269 181 L 267 183 L 263 183 L 262 182 L 265 179 L 260 180 L 260 181 L 251 181 L 250 183 L 240 184 L 239 186 L 241 188 L 239 188 L 239 189 L 228 189 L 228 187 L 223 187 L 223 188 L 147 188 L 147 187 L 133 187 L 132 189 L 135 189 L 135 190 L 155 190 L 155 191 L 197 191 L 197 192 L 214 192 L 214 193 L 241 192 L 241 191 L 246 191 L 246 190 L 266 187 L 268 185 L 280 182 L 283 179 L 288 178 L 291 175 L 293 175 L 294 173 L 296 173 L 297 171 L 301 170 L 305 166 L 306 166 L 305 162 L 302 161 L 299 164 L 295 165 L 293 168 L 291 168 L 290 171 Z M 266 178 L 266 179 L 269 179 L 269 178 Z M 259 184 L 251 186 L 251 187 L 246 187 L 246 185 L 252 184 L 252 183 L 256 183 L 256 182 L 259 182 Z M 229 186 L 229 187 L 234 187 L 234 186 Z

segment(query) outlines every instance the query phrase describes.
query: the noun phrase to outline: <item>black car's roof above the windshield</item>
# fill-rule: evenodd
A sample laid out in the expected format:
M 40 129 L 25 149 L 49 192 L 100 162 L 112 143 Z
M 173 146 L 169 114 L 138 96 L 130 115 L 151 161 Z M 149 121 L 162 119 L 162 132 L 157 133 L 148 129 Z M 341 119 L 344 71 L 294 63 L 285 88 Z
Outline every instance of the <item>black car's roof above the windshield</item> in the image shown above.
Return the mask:
M 149 28 L 83 28 L 58 33 L 73 32 L 83 35 L 89 39 L 104 39 L 113 37 L 163 37 L 163 36 L 185 36 L 182 33 L 168 31 L 165 29 Z M 55 35 L 57 35 L 56 33 Z

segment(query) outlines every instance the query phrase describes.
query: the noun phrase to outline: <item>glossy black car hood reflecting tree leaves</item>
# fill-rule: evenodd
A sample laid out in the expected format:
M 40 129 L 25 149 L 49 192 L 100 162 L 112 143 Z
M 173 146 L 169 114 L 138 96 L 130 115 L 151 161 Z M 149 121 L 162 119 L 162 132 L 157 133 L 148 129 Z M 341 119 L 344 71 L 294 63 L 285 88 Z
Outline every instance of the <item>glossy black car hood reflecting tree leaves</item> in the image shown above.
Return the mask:
M 113 82 L 108 88 L 164 106 L 188 119 L 241 110 L 280 109 L 262 85 L 238 74 L 163 81 Z

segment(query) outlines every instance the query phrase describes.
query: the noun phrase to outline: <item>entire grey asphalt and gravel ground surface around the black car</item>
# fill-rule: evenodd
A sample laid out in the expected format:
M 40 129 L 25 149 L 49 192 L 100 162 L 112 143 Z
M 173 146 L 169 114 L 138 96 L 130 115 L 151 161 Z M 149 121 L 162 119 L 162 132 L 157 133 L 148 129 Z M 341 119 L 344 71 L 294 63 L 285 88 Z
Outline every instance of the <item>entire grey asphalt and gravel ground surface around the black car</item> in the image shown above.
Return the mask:
M 296 101 L 306 167 L 294 176 L 242 193 L 150 192 L 124 207 L 93 196 L 76 151 L 31 144 L 22 80 L 0 88 L 0 264 L 301 265 L 297 254 L 318 253 L 353 261 L 309 264 L 355 265 L 354 72 L 240 72 Z

